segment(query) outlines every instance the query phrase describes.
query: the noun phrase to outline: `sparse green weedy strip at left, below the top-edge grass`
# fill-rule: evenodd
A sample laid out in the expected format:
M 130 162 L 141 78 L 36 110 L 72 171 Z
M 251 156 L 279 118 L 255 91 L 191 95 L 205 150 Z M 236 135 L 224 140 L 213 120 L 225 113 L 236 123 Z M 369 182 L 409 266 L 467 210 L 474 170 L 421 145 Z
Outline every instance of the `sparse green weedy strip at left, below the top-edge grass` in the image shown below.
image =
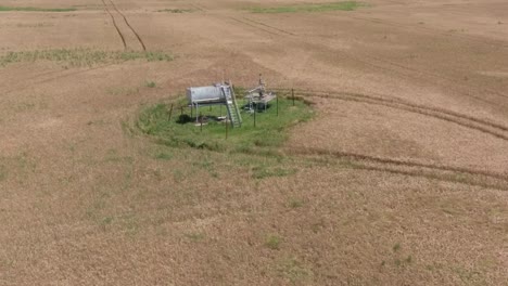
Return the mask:
M 173 55 L 160 51 L 100 51 L 76 48 L 8 52 L 0 56 L 0 66 L 7 66 L 14 63 L 50 61 L 63 64 L 65 67 L 90 67 L 99 64 L 115 64 L 135 60 L 143 60 L 147 62 L 169 62 L 173 61 Z

